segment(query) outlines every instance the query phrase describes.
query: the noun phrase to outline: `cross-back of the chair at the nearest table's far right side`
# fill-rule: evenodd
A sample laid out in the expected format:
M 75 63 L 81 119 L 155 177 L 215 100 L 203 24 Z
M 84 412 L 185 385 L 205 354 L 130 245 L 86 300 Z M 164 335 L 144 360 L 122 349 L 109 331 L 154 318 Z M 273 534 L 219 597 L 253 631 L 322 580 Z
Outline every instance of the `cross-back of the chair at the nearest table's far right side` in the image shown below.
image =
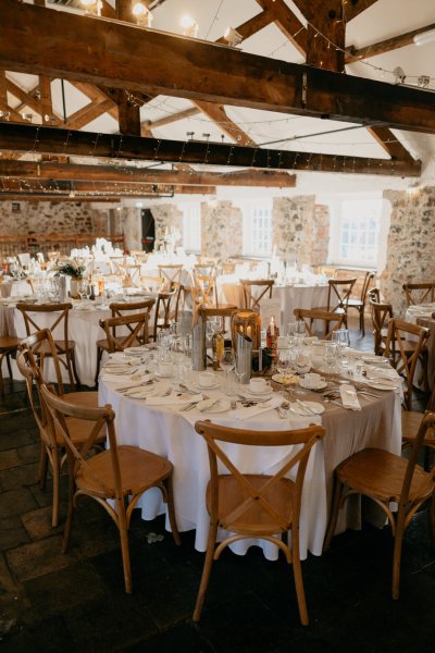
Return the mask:
M 407 381 L 405 404 L 408 410 L 411 410 L 412 406 L 412 382 L 415 366 L 430 333 L 430 330 L 425 326 L 419 326 L 396 318 L 390 320 L 388 324 L 384 355 L 391 360 L 397 372 Z M 410 344 L 412 345 L 411 350 L 409 348 Z

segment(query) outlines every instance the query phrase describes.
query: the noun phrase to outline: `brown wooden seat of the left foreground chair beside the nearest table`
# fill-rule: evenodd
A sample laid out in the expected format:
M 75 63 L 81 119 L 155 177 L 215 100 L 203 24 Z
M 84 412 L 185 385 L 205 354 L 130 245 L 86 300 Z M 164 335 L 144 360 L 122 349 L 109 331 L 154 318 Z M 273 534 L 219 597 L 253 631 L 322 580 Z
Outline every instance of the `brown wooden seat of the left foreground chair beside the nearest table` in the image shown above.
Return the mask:
M 124 496 L 141 494 L 158 485 L 171 476 L 173 469 L 170 460 L 137 446 L 119 446 L 117 456 Z M 82 466 L 77 471 L 76 483 L 84 492 L 115 498 L 111 452 L 105 451 L 89 458 L 86 468 Z

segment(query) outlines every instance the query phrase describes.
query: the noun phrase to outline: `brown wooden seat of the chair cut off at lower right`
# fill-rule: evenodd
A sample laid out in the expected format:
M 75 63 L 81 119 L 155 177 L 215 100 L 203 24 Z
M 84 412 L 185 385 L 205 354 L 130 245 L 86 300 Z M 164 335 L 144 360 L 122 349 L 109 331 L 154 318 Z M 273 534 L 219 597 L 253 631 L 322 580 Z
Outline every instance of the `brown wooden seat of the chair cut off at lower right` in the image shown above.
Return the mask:
M 376 497 L 382 502 L 399 501 L 408 460 L 389 452 L 366 448 L 344 460 L 337 467 L 343 483 L 359 494 Z M 420 497 L 419 489 L 428 478 L 420 466 L 415 466 L 409 493 L 410 501 Z M 432 488 L 428 491 L 431 495 Z

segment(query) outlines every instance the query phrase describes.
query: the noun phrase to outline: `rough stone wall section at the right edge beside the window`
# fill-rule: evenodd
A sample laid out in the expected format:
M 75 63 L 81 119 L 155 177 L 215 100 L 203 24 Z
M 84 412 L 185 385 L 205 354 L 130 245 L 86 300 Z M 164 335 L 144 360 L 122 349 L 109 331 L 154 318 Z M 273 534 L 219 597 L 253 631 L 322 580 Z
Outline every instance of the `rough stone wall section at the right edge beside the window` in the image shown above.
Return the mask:
M 391 215 L 381 289 L 394 315 L 403 317 L 402 284 L 435 281 L 435 187 L 386 190 L 384 197 L 391 202 Z

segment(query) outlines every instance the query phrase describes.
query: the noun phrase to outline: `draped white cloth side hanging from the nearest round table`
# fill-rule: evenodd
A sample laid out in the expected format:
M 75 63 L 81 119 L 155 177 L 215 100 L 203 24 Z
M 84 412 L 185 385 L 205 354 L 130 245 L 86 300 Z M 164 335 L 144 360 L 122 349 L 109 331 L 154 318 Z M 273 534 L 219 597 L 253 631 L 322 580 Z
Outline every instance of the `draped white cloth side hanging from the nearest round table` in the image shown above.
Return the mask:
M 120 444 L 147 448 L 164 457 L 174 465 L 174 496 L 178 529 L 196 529 L 195 547 L 206 551 L 209 530 L 209 516 L 206 508 L 206 488 L 209 482 L 209 459 L 202 438 L 194 429 L 195 421 L 207 419 L 197 410 L 181 414 L 171 407 L 148 407 L 144 402 L 132 399 L 117 393 L 114 385 L 100 379 L 100 404 L 111 404 L 116 414 L 115 426 Z M 374 403 L 376 409 L 373 409 Z M 315 418 L 291 417 L 290 421 L 279 420 L 276 411 L 245 421 L 231 419 L 231 414 L 215 415 L 213 422 L 235 428 L 252 427 L 259 430 L 300 428 L 309 421 L 323 421 L 327 432 L 323 442 L 313 448 L 307 468 L 302 493 L 300 521 L 300 555 L 304 559 L 310 551 L 321 555 L 332 494 L 333 470 L 336 465 L 355 451 L 366 446 L 380 446 L 396 454 L 400 453 L 401 422 L 400 399 L 393 393 L 383 394 L 369 408 L 363 402 L 363 410 L 347 411 L 330 408 Z M 289 447 L 241 447 L 231 445 L 245 471 L 273 472 L 276 464 L 288 455 Z M 291 447 L 290 447 L 291 448 Z M 237 451 L 238 449 L 238 451 Z M 337 527 L 337 532 L 347 526 L 360 525 L 359 505 L 350 509 Z M 138 503 L 144 519 L 153 519 L 165 512 L 158 490 L 144 494 Z M 358 515 L 356 515 L 356 512 Z M 167 515 L 166 529 L 170 530 Z M 223 535 L 223 533 L 221 533 Z M 221 538 L 222 539 L 222 538 Z M 249 545 L 262 546 L 269 559 L 277 557 L 277 547 L 263 541 L 240 541 L 232 549 L 244 554 Z

